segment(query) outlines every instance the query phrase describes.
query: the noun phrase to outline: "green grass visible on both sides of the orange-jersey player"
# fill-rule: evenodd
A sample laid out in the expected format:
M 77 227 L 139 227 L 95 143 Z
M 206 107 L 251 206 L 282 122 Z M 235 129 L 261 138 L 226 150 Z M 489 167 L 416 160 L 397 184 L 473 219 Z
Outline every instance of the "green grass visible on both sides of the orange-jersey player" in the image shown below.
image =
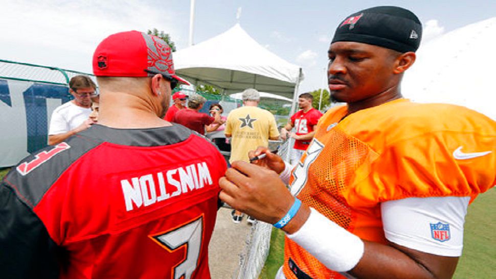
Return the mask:
M 496 189 L 480 195 L 468 207 L 463 255 L 454 278 L 495 278 L 496 272 Z M 270 251 L 260 278 L 272 279 L 283 262 L 284 233 L 273 229 Z

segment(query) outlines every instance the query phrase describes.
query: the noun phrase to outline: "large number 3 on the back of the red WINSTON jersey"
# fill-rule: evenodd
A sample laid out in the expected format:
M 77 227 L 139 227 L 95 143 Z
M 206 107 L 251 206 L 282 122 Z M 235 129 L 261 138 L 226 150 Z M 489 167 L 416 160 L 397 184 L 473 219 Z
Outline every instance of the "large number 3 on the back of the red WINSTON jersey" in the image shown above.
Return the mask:
M 174 266 L 173 273 L 174 279 L 183 276 L 184 279 L 190 279 L 198 265 L 203 239 L 203 216 L 166 233 L 150 236 L 150 238 L 170 252 L 186 245 L 184 260 Z

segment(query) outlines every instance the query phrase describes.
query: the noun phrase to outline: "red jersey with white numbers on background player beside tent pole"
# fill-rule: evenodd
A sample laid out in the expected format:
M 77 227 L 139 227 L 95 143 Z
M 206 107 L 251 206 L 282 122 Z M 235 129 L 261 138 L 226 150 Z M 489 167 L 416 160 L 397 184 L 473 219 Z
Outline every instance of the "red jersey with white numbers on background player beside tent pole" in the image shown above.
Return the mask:
M 300 109 L 291 116 L 291 123 L 295 126 L 297 135 L 308 134 L 313 132 L 313 126 L 317 125 L 319 119 L 322 117 L 322 112 L 317 109 L 310 108 L 307 112 Z M 301 139 L 295 140 L 295 149 L 306 150 L 310 144 L 311 139 L 305 141 Z

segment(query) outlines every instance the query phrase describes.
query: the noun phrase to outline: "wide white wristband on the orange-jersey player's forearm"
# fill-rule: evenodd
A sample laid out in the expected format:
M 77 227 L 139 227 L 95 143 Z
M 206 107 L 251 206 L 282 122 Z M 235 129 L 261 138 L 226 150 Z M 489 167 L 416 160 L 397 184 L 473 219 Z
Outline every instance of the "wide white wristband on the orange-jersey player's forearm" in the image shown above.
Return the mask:
M 364 242 L 310 207 L 308 220 L 286 236 L 307 250 L 327 268 L 346 272 L 362 259 Z

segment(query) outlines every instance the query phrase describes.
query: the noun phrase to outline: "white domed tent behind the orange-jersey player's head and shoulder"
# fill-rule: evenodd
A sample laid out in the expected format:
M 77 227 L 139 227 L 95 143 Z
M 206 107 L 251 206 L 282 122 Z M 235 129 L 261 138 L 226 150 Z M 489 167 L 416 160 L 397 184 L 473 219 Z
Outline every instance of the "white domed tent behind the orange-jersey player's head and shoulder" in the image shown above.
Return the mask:
M 468 107 L 496 120 L 496 17 L 470 24 L 421 45 L 402 82 L 417 102 Z

